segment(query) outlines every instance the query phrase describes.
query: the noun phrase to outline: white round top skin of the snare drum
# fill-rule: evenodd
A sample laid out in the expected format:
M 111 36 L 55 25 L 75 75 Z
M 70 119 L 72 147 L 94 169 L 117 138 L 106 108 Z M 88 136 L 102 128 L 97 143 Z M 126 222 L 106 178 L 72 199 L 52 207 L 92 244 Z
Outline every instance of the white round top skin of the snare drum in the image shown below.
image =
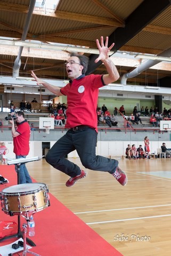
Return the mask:
M 24 183 L 19 185 L 14 185 L 8 188 L 4 188 L 2 193 L 5 194 L 16 194 L 16 193 L 28 193 L 36 190 L 40 190 L 45 187 L 45 183 Z

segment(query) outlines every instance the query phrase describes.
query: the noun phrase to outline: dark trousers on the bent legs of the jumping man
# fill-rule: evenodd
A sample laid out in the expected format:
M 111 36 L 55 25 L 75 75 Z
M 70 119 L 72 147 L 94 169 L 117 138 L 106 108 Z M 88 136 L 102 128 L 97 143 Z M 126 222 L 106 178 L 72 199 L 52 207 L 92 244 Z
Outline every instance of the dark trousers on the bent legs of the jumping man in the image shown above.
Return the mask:
M 55 169 L 68 174 L 70 177 L 75 177 L 80 174 L 80 168 L 65 156 L 76 149 L 85 168 L 114 173 L 118 166 L 118 161 L 96 156 L 96 142 L 97 132 L 88 126 L 84 126 L 83 129 L 77 131 L 69 130 L 48 151 L 46 161 Z

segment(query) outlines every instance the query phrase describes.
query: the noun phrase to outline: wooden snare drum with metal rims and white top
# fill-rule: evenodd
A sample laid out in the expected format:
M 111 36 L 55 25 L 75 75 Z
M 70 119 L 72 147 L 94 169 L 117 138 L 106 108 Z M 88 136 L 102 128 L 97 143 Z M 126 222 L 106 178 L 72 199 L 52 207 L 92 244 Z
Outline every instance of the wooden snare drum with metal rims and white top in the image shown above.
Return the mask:
M 1 206 L 6 214 L 24 215 L 50 206 L 47 185 L 25 183 L 5 188 L 1 192 Z

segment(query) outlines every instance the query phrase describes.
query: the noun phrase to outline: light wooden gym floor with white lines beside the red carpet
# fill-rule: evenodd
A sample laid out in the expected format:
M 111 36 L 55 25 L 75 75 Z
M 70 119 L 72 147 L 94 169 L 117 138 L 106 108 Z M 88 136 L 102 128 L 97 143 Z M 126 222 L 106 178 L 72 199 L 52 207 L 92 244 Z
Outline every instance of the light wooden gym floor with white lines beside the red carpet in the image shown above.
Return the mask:
M 79 158 L 70 161 L 84 168 Z M 51 194 L 124 256 L 170 256 L 170 164 L 170 158 L 119 159 L 128 176 L 126 187 L 109 173 L 87 170 L 86 178 L 67 188 L 68 176 L 45 159 L 29 162 L 27 168 L 37 182 L 46 183 Z

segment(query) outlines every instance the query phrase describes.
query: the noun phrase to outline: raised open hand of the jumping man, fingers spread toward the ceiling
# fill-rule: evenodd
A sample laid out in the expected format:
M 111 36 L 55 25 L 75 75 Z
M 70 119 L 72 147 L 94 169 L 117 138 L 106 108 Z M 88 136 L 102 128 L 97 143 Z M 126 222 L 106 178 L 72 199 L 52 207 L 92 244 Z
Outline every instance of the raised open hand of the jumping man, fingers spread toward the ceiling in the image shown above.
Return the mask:
M 96 45 L 97 48 L 99 49 L 99 57 L 94 61 L 95 63 L 97 63 L 99 60 L 105 60 L 109 58 L 109 52 L 112 49 L 112 47 L 115 45 L 114 43 L 112 43 L 112 45 L 110 47 L 108 47 L 108 36 L 105 38 L 105 45 L 104 45 L 104 41 L 103 41 L 103 36 L 101 36 L 101 44 L 99 43 L 99 39 L 96 39 Z

